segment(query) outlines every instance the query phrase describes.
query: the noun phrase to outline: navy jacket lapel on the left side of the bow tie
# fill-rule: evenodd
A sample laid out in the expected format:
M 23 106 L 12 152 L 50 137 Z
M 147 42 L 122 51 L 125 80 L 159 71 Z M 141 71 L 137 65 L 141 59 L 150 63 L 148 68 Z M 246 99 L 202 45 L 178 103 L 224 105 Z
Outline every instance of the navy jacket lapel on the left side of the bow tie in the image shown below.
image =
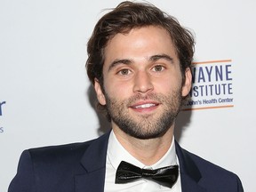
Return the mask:
M 76 175 L 76 192 L 103 192 L 109 132 L 93 140 L 81 159 L 85 173 Z

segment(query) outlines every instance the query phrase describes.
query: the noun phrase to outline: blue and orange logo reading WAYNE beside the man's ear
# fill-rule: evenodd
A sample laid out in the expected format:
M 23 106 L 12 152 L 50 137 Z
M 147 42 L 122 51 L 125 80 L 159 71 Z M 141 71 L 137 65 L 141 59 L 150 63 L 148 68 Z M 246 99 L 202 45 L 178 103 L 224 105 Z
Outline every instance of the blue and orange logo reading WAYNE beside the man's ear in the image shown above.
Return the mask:
M 233 108 L 232 60 L 195 62 L 190 100 L 183 110 Z

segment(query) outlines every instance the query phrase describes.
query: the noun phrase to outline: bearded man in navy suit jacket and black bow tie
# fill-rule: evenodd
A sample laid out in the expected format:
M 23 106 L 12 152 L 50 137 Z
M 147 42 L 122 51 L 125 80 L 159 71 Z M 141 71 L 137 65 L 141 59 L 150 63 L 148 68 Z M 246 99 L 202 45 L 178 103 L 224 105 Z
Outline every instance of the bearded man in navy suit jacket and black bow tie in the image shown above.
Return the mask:
M 121 3 L 99 20 L 87 52 L 112 131 L 24 151 L 9 192 L 244 191 L 236 174 L 174 140 L 194 53 L 193 36 L 177 20 L 151 4 Z

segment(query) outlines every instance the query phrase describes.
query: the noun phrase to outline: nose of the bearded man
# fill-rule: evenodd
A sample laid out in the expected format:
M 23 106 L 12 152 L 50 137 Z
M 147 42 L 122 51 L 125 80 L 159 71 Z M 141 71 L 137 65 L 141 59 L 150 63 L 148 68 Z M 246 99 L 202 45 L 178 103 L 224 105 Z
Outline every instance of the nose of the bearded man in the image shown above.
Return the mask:
M 146 93 L 153 89 L 151 76 L 146 71 L 140 71 L 134 76 L 133 92 Z

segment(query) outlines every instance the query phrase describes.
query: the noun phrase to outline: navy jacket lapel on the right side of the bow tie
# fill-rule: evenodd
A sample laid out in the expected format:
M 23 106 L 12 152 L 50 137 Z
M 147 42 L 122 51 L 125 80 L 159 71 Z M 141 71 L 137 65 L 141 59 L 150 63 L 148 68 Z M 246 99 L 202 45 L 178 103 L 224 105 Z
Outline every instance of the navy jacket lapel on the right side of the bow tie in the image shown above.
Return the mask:
M 202 176 L 195 162 L 188 152 L 175 141 L 176 154 L 180 163 L 180 178 L 182 192 L 205 192 L 206 189 L 199 185 Z

